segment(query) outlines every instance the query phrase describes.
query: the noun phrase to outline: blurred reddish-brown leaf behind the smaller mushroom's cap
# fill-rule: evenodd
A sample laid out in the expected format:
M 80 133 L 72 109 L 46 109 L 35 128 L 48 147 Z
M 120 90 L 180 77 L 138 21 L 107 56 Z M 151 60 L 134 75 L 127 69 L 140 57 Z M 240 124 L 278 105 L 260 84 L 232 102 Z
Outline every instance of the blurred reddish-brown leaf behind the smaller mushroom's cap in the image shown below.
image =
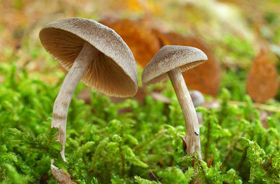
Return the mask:
M 220 89 L 220 64 L 209 46 L 199 38 L 182 36 L 177 33 L 165 33 L 164 36 L 167 39 L 162 38 L 163 34 L 157 33 L 157 35 L 163 45 L 196 47 L 207 55 L 207 62 L 185 71 L 183 77 L 188 87 L 216 96 Z

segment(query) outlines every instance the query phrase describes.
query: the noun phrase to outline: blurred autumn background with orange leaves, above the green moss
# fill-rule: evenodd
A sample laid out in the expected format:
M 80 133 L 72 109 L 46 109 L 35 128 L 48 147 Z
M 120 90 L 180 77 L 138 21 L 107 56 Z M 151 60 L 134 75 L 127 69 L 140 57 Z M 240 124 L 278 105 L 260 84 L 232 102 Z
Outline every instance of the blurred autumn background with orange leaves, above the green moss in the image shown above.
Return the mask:
M 0 9 L 0 62 L 45 82 L 64 74 L 41 46 L 40 28 L 84 17 L 112 27 L 140 71 L 164 45 L 193 46 L 209 61 L 183 74 L 189 88 L 216 97 L 226 87 L 233 100 L 248 93 L 279 105 L 279 0 L 0 0 Z

